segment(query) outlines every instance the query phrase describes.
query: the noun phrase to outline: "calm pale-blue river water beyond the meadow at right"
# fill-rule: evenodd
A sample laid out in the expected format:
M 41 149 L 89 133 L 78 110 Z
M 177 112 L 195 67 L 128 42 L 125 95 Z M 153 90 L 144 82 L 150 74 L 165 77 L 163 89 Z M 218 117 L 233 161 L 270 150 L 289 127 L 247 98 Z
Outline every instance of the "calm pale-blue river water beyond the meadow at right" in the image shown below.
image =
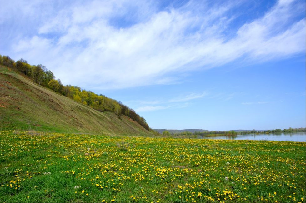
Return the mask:
M 295 141 L 305 142 L 305 132 L 285 132 L 285 133 L 270 133 L 270 134 L 247 134 L 236 136 L 218 136 L 218 137 L 206 137 L 198 136 L 199 139 L 223 139 L 223 140 L 270 140 L 270 141 Z

